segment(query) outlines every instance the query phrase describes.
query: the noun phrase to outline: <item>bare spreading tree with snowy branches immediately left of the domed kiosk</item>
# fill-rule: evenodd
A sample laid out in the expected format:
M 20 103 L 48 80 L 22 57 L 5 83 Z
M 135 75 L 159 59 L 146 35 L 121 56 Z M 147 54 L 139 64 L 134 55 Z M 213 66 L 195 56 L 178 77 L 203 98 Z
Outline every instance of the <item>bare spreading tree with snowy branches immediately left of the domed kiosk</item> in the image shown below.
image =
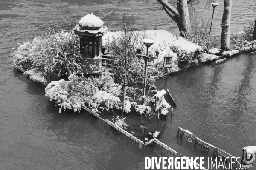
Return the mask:
M 50 70 L 57 71 L 57 75 L 60 76 L 65 70 L 71 75 L 73 71 L 81 69 L 81 65 L 77 63 L 81 58 L 78 36 L 72 30 L 65 31 L 56 27 L 49 28 L 48 31 L 39 37 L 44 44 L 39 48 L 44 51 L 41 54 L 42 59 L 46 63 L 51 63 Z

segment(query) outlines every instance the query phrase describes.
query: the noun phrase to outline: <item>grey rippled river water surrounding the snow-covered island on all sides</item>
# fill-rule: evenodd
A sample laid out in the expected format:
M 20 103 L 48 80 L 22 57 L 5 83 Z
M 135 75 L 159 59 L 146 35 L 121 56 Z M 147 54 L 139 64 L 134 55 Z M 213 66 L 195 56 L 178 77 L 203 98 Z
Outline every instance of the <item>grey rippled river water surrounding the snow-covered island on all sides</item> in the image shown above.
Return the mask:
M 79 114 L 58 113 L 44 89 L 28 84 L 15 73 L 12 48 L 42 34 L 47 19 L 56 21 L 67 11 L 79 20 L 93 11 L 115 30 L 120 17 L 134 16 L 149 29 L 177 33 L 177 26 L 155 1 L 113 5 L 106 0 L 0 0 L 0 169 L 1 170 L 135 170 L 144 169 L 145 156 L 98 130 Z M 201 9 L 202 10 L 202 9 Z M 242 31 L 255 10 L 233 0 L 231 32 Z M 223 3 L 215 10 L 213 34 L 220 34 Z M 205 9 L 211 17 L 212 9 Z M 256 145 L 255 57 L 242 54 L 227 62 L 160 79 L 177 100 L 160 140 L 186 156 L 203 153 L 177 143 L 177 128 L 192 131 L 204 141 L 234 156 Z

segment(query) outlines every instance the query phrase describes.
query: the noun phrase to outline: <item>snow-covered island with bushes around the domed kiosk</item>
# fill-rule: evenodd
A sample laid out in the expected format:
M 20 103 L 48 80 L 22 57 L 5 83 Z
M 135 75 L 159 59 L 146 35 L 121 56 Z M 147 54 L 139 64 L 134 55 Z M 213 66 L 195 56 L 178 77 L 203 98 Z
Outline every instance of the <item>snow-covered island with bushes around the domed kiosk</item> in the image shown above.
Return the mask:
M 237 40 L 236 50 L 206 48 L 165 30 L 134 29 L 120 25 L 110 32 L 93 14 L 83 17 L 75 28 L 49 28 L 41 36 L 24 42 L 12 54 L 14 66 L 35 82 L 47 84 L 46 94 L 59 107 L 80 112 L 88 108 L 144 142 L 159 136 L 164 125 L 156 126 L 154 82 L 183 68 L 233 56 L 239 51 L 254 51 L 256 41 L 245 39 L 246 30 Z M 129 30 L 129 31 L 125 31 Z M 132 31 L 131 31 L 132 30 Z M 149 48 L 146 93 L 143 39 L 152 39 Z M 160 119 L 166 120 L 171 106 L 163 99 Z

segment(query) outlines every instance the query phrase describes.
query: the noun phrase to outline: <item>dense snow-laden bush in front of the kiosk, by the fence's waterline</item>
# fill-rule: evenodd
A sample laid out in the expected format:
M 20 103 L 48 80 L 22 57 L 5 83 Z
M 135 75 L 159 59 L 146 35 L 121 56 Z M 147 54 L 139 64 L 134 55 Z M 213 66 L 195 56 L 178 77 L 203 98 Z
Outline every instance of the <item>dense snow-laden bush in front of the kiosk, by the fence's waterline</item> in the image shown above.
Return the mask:
M 99 77 L 101 79 L 102 77 Z M 95 80 L 95 79 L 93 79 Z M 61 79 L 52 81 L 45 88 L 46 94 L 50 100 L 54 100 L 56 105 L 60 106 L 59 112 L 62 109 L 73 109 L 80 111 L 81 107 L 89 107 L 94 113 L 108 111 L 109 109 L 117 108 L 121 105 L 116 92 L 113 94 L 107 91 L 102 91 L 96 86 L 90 78 L 79 77 L 76 74 L 71 74 L 68 81 Z M 106 90 L 111 90 L 111 86 Z

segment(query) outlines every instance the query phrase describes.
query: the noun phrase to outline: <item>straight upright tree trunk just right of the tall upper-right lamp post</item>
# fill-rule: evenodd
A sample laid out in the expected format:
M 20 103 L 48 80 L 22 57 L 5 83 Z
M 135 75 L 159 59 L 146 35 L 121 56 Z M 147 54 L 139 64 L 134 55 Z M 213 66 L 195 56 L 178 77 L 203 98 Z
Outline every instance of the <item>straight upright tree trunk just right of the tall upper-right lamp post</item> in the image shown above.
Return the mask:
M 228 50 L 230 46 L 230 20 L 232 0 L 224 0 L 224 11 L 222 17 L 221 50 Z

